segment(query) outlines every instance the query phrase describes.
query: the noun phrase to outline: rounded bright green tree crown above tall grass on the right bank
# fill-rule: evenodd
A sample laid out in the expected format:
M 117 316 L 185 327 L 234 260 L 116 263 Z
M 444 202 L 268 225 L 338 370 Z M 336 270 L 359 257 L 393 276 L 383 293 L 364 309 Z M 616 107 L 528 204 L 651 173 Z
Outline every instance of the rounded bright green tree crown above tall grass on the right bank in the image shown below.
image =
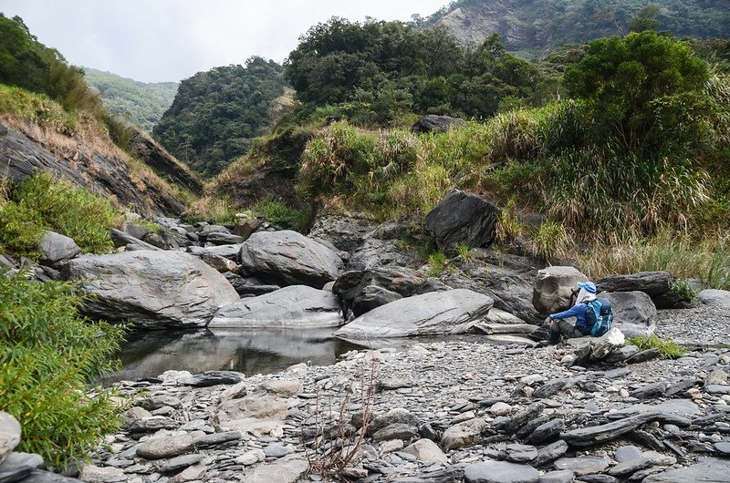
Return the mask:
M 565 84 L 585 98 L 603 134 L 626 151 L 676 146 L 685 121 L 707 106 L 707 64 L 690 46 L 652 31 L 594 40 Z

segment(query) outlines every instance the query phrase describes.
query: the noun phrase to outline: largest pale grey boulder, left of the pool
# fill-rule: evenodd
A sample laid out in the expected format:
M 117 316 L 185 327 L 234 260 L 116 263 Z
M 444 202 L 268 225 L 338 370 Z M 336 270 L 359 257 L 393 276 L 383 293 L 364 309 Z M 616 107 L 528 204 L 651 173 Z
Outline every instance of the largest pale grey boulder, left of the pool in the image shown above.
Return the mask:
M 222 274 L 184 252 L 88 255 L 65 270 L 93 295 L 84 313 L 139 328 L 204 327 L 219 307 L 239 300 Z

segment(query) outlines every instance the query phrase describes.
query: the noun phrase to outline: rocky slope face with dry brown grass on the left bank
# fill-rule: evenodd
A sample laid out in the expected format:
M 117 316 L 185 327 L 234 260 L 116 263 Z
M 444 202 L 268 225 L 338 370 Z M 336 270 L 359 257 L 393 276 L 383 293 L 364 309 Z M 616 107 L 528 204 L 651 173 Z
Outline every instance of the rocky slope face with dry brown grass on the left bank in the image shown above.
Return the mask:
M 35 170 L 50 170 L 148 215 L 178 215 L 185 209 L 169 184 L 108 139 L 69 137 L 17 118 L 0 118 L 0 175 L 18 182 Z

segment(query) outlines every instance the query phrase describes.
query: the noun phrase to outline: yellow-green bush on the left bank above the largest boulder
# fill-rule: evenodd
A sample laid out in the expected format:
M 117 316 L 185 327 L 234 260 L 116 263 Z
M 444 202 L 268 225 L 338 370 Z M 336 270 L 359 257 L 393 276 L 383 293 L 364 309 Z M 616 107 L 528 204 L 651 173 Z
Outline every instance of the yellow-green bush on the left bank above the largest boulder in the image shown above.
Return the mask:
M 10 199 L 0 200 L 0 242 L 19 254 L 35 257 L 43 231 L 52 230 L 77 242 L 84 252 L 110 252 L 110 227 L 121 213 L 110 200 L 78 189 L 67 180 L 39 172 L 24 181 Z

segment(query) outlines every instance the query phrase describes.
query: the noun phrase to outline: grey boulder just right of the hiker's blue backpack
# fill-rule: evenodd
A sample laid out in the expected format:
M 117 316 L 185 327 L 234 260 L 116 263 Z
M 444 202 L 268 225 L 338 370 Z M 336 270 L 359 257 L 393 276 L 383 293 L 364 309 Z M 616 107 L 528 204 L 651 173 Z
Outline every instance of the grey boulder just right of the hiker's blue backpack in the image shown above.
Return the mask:
M 604 293 L 613 309 L 614 328 L 626 337 L 652 335 L 656 329 L 656 306 L 652 298 L 643 292 Z

